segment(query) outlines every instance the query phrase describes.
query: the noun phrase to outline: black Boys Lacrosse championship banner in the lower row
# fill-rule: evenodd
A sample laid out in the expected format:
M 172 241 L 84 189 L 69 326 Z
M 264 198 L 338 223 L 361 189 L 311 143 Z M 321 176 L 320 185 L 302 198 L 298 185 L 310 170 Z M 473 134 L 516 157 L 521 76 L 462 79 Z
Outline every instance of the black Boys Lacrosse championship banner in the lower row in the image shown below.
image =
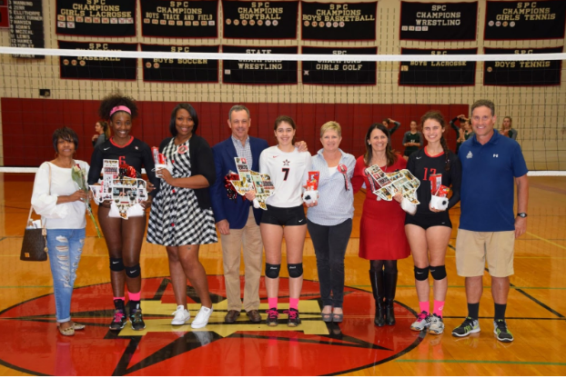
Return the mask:
M 401 55 L 475 55 L 476 48 L 416 49 L 402 48 Z M 401 62 L 399 85 L 454 86 L 475 85 L 476 62 Z

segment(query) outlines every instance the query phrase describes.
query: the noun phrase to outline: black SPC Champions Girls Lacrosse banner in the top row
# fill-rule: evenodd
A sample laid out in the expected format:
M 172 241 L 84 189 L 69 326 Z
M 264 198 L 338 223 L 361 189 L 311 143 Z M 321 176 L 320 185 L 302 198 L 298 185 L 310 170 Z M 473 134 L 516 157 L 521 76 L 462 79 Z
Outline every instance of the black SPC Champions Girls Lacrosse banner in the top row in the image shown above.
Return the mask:
M 58 35 L 136 35 L 136 0 L 57 0 L 56 13 Z

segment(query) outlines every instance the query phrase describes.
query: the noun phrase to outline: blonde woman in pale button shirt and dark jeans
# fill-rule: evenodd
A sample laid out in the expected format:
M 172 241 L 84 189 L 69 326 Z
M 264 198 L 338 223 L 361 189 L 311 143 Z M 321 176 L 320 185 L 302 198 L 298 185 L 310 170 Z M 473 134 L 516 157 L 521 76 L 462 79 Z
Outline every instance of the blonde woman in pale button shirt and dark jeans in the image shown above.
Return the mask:
M 312 158 L 312 171 L 320 173 L 319 201 L 308 204 L 308 234 L 317 256 L 322 298 L 322 320 L 341 322 L 344 316 L 344 255 L 352 232 L 354 194 L 350 179 L 356 158 L 339 149 L 342 129 L 330 121 L 320 128 L 322 149 Z

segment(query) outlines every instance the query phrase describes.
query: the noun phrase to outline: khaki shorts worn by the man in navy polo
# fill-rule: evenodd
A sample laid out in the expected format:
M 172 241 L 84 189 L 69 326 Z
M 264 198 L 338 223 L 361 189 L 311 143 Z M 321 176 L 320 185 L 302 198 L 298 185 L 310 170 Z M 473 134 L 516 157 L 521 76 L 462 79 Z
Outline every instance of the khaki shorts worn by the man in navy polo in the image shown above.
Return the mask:
M 513 271 L 515 232 L 476 233 L 458 229 L 456 269 L 462 277 L 483 275 L 486 256 L 493 277 L 509 277 Z

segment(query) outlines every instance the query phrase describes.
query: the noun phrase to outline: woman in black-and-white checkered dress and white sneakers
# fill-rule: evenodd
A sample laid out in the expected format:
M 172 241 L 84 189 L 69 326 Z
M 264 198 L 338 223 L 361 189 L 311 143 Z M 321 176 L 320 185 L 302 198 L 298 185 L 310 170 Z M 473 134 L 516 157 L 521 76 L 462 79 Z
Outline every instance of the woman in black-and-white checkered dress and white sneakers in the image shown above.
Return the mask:
M 151 206 L 147 225 L 147 242 L 165 245 L 177 311 L 172 324 L 190 319 L 187 311 L 187 278 L 202 304 L 192 328 L 207 325 L 212 313 L 205 268 L 198 261 L 200 244 L 217 243 L 214 216 L 210 208 L 208 186 L 216 180 L 212 149 L 201 136 L 195 135 L 197 112 L 190 104 L 178 104 L 171 113 L 169 130 L 159 152 L 172 166 L 157 171 L 161 177 L 159 193 Z

